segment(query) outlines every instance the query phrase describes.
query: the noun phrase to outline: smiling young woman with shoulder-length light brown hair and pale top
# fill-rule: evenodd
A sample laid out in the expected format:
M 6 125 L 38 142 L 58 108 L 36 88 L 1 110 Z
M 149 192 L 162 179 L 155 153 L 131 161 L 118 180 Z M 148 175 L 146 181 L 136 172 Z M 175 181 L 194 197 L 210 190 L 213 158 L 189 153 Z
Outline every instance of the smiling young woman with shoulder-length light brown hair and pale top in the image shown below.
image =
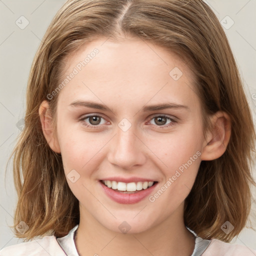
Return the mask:
M 227 243 L 250 211 L 255 132 L 202 0 L 68 0 L 26 103 L 12 226 L 25 242 L 0 255 L 256 255 Z

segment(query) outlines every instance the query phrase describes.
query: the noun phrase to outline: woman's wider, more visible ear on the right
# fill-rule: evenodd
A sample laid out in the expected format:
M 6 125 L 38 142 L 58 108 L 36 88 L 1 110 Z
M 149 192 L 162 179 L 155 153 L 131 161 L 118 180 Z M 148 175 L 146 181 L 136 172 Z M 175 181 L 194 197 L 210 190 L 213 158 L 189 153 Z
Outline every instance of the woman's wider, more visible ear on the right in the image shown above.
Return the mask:
M 208 131 L 205 146 L 202 148 L 201 160 L 214 160 L 226 150 L 231 135 L 231 120 L 227 113 L 216 112 L 211 116 L 213 129 Z

